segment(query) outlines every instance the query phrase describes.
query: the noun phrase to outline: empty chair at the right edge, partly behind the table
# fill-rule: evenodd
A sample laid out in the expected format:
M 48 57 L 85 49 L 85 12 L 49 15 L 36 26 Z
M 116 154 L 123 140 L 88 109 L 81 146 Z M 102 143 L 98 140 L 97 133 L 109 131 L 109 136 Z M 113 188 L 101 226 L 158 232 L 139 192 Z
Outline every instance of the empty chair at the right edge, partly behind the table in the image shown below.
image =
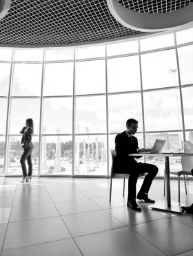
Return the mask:
M 185 149 L 185 153 L 192 153 L 192 149 Z M 192 156 L 181 156 L 181 166 L 182 170 L 172 171 L 170 174 L 178 176 L 179 181 L 179 202 L 180 202 L 180 176 L 183 175 L 184 185 L 185 185 L 185 194 L 187 194 L 185 175 L 191 175 L 191 170 L 193 168 L 193 157 Z M 164 172 L 164 188 L 163 195 L 165 196 L 165 172 Z

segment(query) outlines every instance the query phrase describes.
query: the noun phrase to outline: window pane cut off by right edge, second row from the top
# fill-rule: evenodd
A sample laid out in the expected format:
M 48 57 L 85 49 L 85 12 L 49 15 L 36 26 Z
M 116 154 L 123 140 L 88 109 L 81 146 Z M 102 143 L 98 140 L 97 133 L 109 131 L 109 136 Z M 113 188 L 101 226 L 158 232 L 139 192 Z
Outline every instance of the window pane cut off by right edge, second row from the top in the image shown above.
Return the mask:
M 193 46 L 178 48 L 181 84 L 193 84 Z

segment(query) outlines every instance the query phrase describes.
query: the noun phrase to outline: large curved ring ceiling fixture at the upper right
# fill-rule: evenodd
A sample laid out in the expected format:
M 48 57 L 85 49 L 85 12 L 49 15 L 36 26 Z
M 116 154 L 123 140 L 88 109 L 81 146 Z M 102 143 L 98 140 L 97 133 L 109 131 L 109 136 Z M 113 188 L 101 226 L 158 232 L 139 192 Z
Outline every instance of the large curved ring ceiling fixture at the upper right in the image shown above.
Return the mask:
M 159 32 L 193 24 L 193 3 L 173 12 L 147 13 L 125 8 L 117 0 L 107 0 L 114 18 L 126 28 L 141 32 Z

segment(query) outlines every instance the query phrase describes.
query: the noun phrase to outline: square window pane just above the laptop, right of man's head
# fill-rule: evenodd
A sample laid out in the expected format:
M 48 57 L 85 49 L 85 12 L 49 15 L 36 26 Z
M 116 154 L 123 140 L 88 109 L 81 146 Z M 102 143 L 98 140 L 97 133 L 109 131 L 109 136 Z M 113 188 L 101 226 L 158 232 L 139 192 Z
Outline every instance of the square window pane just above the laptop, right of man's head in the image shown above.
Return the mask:
M 182 129 L 179 89 L 143 93 L 145 131 Z

